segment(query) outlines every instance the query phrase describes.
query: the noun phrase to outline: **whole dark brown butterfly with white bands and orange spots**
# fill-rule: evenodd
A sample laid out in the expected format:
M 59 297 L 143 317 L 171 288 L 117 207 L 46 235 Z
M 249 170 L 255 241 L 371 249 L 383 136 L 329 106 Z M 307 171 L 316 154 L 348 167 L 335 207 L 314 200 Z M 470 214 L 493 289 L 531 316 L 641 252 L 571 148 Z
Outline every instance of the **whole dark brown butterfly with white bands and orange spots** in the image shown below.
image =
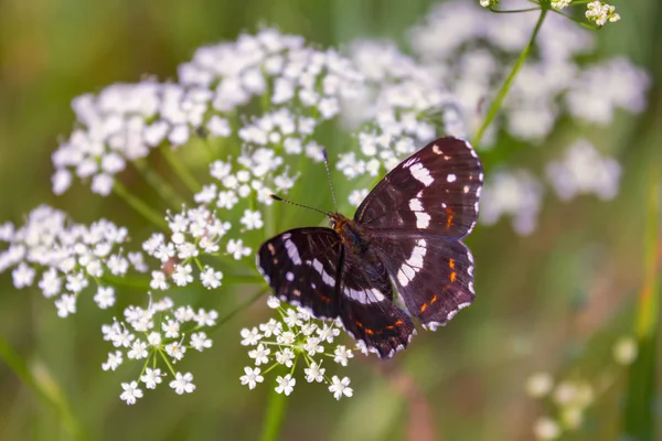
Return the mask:
M 478 219 L 483 173 L 471 146 L 439 138 L 405 159 L 353 218 L 265 241 L 257 267 L 281 300 L 345 331 L 381 358 L 404 349 L 412 318 L 435 331 L 474 299 L 473 257 L 461 239 Z

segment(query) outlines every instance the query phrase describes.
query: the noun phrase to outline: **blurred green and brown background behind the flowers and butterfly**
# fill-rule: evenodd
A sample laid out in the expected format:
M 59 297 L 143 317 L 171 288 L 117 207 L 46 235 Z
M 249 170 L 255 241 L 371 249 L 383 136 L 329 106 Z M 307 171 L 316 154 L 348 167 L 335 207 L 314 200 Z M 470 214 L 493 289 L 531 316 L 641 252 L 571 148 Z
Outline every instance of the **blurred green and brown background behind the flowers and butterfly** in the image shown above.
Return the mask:
M 530 237 L 516 236 L 506 222 L 478 228 L 469 240 L 477 259 L 477 302 L 450 326 L 419 333 L 415 344 L 389 364 L 355 361 L 351 399 L 337 402 L 319 386 L 298 386 L 287 400 L 282 439 L 424 439 L 431 421 L 433 437 L 444 440 L 528 440 L 533 421 L 546 411 L 544 404 L 526 396 L 530 374 L 546 370 L 591 378 L 612 364 L 612 342 L 634 329 L 637 297 L 644 284 L 649 186 L 653 165 L 662 163 L 660 3 L 617 3 L 622 21 L 598 36 L 598 54 L 627 55 L 645 67 L 654 83 L 645 112 L 619 115 L 613 127 L 591 133 L 596 144 L 604 140 L 619 146 L 612 150 L 623 166 L 618 197 L 609 203 L 590 196 L 567 204 L 547 200 Z M 50 203 L 77 222 L 107 216 L 117 224 L 142 225 L 121 201 L 97 197 L 82 185 L 63 197 L 51 194 L 50 154 L 58 137 L 72 128 L 70 103 L 75 96 L 116 82 L 137 82 L 146 74 L 173 78 L 178 64 L 200 45 L 234 40 L 259 24 L 324 46 L 356 37 L 403 41 L 404 32 L 431 4 L 431 0 L 0 2 L 0 222 L 20 223 L 34 206 Z M 527 157 L 531 164 L 540 163 L 535 150 Z M 10 273 L 0 276 L 0 335 L 52 394 L 64 397 L 74 424 L 88 439 L 259 435 L 271 378 L 254 391 L 239 385 L 248 358 L 238 344 L 238 330 L 266 316 L 261 304 L 216 331 L 211 351 L 188 357 L 190 368 L 184 369 L 195 375 L 194 394 L 179 397 L 162 387 L 127 407 L 118 399 L 119 383 L 132 375 L 100 369 L 109 351 L 100 338 L 100 323 L 109 322 L 105 312 L 88 302 L 79 305 L 78 314 L 58 319 L 52 303 L 35 290 L 14 290 Z M 223 301 L 216 306 L 221 315 Z M 566 439 L 619 439 L 627 370 L 615 378 L 596 395 L 586 427 Z M 660 418 L 659 389 L 656 394 Z M 63 420 L 67 417 L 0 361 L 0 440 L 66 440 L 71 432 Z

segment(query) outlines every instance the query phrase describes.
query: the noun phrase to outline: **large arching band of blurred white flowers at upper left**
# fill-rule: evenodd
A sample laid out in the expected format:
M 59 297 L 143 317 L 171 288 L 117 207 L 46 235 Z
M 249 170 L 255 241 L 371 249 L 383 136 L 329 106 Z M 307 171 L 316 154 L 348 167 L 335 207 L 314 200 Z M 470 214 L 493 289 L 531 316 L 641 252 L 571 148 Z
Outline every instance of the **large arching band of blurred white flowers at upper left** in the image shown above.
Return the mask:
M 281 110 L 237 128 L 244 142 L 276 144 L 292 153 L 303 149 L 319 158 L 321 150 L 303 138 L 318 120 L 338 115 L 341 100 L 362 84 L 349 60 L 337 52 L 306 46 L 303 39 L 273 29 L 199 49 L 179 67 L 179 83 L 117 84 L 76 98 L 77 128 L 53 154 L 54 193 L 65 192 L 75 174 L 92 180 L 95 193 L 107 195 L 127 161 L 147 157 L 154 147 L 183 144 L 199 128 L 227 138 L 236 123 L 234 111 L 256 96 L 269 109 Z M 256 149 L 247 158 L 259 162 L 264 154 Z

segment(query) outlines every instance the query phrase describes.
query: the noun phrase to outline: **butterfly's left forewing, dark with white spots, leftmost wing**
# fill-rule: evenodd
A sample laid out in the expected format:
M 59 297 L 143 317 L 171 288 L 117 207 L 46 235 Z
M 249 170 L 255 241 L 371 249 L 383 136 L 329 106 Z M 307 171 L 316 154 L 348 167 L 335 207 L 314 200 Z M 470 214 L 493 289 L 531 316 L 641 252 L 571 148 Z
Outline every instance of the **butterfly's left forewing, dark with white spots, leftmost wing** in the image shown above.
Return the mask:
M 257 268 L 281 300 L 309 308 L 319 319 L 335 319 L 341 254 L 332 229 L 296 228 L 259 247 Z

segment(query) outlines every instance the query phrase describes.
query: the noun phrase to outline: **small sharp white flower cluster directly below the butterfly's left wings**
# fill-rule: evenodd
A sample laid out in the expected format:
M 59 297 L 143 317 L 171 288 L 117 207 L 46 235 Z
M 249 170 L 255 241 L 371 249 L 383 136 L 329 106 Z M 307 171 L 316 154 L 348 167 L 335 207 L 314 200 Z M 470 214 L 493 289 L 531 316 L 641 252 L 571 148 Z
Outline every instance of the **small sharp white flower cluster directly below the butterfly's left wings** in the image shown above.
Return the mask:
M 269 308 L 277 310 L 280 320 L 270 319 L 260 324 L 259 329 L 242 330 L 242 345 L 252 347 L 248 356 L 255 361 L 255 367 L 244 368 L 245 375 L 239 378 L 242 384 L 254 389 L 258 383 L 264 381 L 263 375 L 285 367 L 289 373 L 276 378 L 276 391 L 290 395 L 297 384 L 295 368 L 302 358 L 306 363 L 306 381 L 329 385 L 329 391 L 335 399 L 351 397 L 353 390 L 349 387 L 350 378 L 340 379 L 335 375 L 329 377 L 327 368 L 322 367 L 324 358 L 332 358 L 337 364 L 346 366 L 348 361 L 354 356 L 352 349 L 343 345 L 337 345 L 330 352 L 334 338 L 340 335 L 341 325 L 317 321 L 301 308 L 282 308 L 274 297 L 267 303 Z M 259 366 L 268 367 L 263 372 Z

